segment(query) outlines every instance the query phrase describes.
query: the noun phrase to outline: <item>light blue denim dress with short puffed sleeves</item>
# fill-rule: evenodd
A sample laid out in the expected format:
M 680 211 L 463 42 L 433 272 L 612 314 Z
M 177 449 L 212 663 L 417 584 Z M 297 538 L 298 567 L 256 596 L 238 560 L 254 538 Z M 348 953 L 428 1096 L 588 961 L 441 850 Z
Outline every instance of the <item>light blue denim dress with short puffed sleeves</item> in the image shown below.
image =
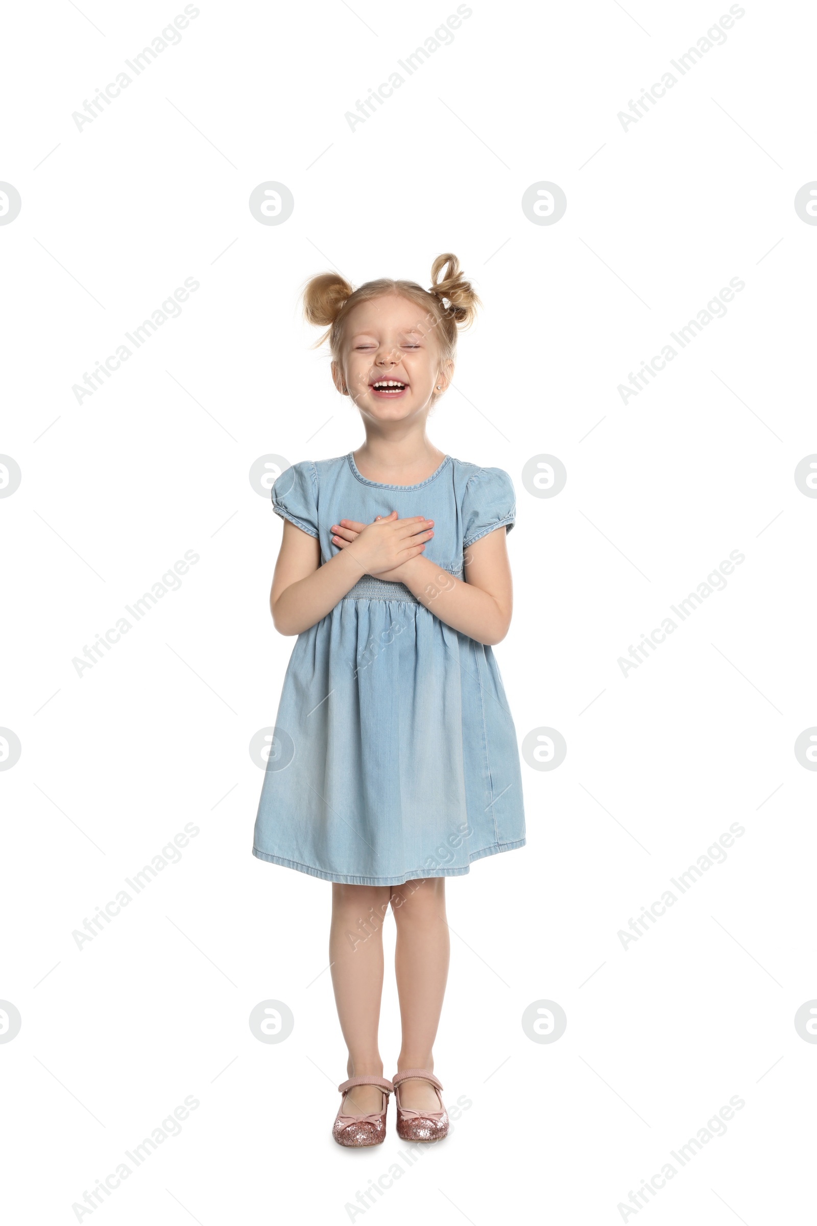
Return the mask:
M 416 485 L 360 474 L 352 452 L 304 460 L 272 487 L 277 515 L 339 552 L 333 524 L 396 510 L 434 520 L 423 557 L 463 577 L 463 550 L 505 525 L 501 468 L 446 456 Z M 431 602 L 431 609 L 434 602 Z M 365 575 L 298 635 L 284 676 L 252 853 L 350 885 L 459 877 L 525 841 L 513 718 L 490 646 L 404 584 Z

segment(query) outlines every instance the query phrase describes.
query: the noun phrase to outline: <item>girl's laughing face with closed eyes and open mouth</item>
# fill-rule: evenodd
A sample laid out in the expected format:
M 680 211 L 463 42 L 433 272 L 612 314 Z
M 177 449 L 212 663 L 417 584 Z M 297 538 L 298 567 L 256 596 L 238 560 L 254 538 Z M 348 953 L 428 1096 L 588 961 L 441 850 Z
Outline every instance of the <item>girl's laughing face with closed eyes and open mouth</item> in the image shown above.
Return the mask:
M 435 324 L 431 311 L 396 294 L 359 303 L 347 316 L 341 362 L 332 363 L 334 386 L 375 421 L 426 409 L 453 374 L 452 362 L 440 362 Z

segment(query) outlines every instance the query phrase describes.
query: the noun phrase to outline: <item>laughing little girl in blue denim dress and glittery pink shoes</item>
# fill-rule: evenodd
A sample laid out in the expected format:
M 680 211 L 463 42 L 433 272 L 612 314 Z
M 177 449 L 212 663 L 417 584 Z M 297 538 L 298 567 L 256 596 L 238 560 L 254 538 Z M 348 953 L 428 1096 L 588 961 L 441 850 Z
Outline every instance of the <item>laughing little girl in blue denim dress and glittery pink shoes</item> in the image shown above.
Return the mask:
M 445 268 L 445 276 L 437 281 Z M 432 1046 L 448 973 L 445 879 L 524 846 L 513 720 L 491 646 L 511 622 L 501 468 L 443 455 L 426 418 L 450 386 L 458 326 L 480 305 L 453 255 L 431 288 L 314 277 L 305 316 L 326 332 L 332 379 L 366 441 L 303 460 L 272 488 L 284 520 L 269 593 L 298 635 L 284 677 L 252 852 L 332 881 L 329 962 L 348 1079 L 341 1145 L 446 1135 Z M 382 923 L 397 926 L 402 1047 L 377 1047 Z

